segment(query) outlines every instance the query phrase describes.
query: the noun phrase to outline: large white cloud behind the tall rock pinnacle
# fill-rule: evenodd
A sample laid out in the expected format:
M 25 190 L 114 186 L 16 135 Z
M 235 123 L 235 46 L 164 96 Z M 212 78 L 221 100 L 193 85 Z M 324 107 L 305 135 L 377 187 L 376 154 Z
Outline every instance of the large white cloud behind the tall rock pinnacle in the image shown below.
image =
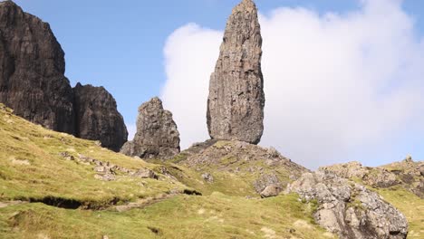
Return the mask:
M 376 150 L 387 155 L 405 132 L 424 135 L 424 41 L 401 1 L 361 4 L 349 14 L 283 7 L 260 16 L 266 97 L 261 145 L 317 167 L 352 155 L 365 160 Z M 188 24 L 169 36 L 162 98 L 183 148 L 208 139 L 207 87 L 222 34 Z

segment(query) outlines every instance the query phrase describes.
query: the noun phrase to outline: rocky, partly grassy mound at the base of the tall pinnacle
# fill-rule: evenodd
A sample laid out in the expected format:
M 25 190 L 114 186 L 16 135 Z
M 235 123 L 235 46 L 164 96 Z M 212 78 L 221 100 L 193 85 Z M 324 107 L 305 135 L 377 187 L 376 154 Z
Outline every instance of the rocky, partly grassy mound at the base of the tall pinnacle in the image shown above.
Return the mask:
M 277 196 L 289 182 L 309 172 L 275 148 L 262 148 L 236 140 L 210 139 L 195 144 L 178 154 L 173 162 L 199 172 L 199 179 L 207 181 L 207 186 L 213 186 L 213 190 L 219 187 L 223 193 L 249 197 Z M 182 171 L 175 173 L 178 175 Z M 214 180 L 208 180 L 210 177 Z M 223 184 L 228 184 L 228 188 L 235 184 L 241 187 L 235 192 L 224 188 Z

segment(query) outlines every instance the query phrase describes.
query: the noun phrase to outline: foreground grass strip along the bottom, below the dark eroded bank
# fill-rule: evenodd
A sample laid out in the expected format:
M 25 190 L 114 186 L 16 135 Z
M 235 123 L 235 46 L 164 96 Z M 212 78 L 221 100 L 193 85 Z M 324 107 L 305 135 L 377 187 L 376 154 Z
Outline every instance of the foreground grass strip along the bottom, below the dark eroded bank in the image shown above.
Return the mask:
M 2 238 L 331 238 L 295 195 L 177 196 L 124 213 L 28 204 L 0 209 L 0 222 Z

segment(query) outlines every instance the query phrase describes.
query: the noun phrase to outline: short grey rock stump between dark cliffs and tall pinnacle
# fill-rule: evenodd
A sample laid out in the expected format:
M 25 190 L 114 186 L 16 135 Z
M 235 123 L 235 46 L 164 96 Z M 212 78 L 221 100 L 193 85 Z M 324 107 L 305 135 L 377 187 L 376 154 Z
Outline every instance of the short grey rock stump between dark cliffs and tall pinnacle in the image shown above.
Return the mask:
M 171 158 L 179 153 L 179 133 L 172 113 L 153 98 L 139 108 L 137 133 L 120 152 L 140 158 Z

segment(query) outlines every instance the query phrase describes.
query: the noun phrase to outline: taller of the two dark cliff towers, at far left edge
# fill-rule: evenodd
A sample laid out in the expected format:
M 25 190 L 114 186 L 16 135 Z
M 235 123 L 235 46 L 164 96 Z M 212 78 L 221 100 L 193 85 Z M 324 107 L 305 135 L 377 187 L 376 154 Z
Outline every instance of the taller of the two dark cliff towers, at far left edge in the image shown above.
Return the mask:
M 49 24 L 0 3 L 0 102 L 46 128 L 74 133 L 72 88 Z

